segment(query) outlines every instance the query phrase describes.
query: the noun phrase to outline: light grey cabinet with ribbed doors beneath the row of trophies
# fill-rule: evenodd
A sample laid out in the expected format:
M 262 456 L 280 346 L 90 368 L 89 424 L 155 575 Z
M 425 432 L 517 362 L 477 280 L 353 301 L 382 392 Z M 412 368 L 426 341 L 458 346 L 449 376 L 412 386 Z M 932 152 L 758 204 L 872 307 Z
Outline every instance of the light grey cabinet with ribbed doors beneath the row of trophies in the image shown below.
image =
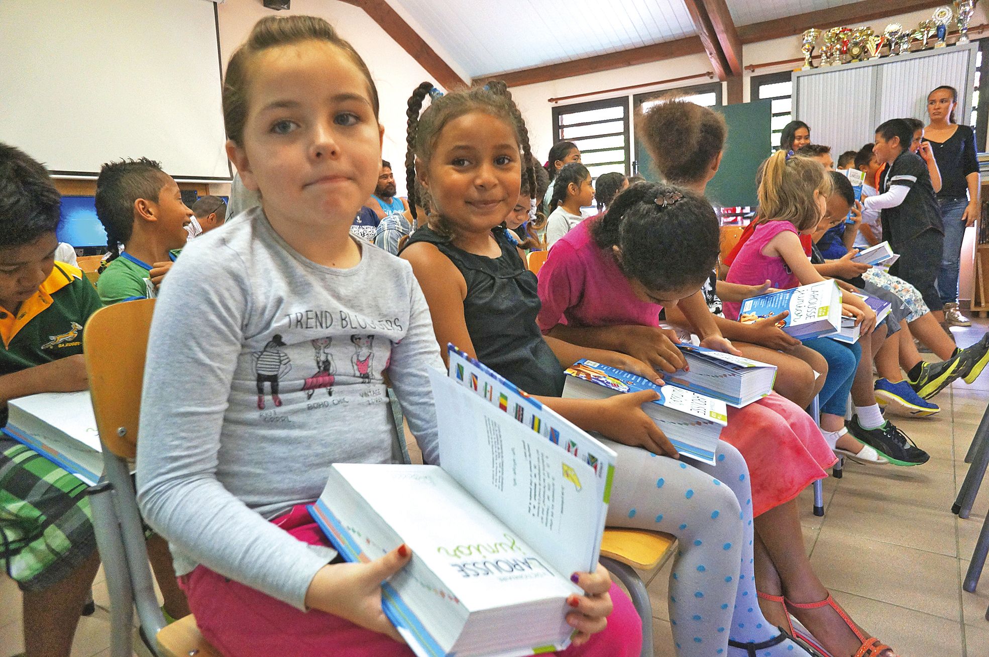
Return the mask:
M 837 153 L 875 140 L 889 119 L 928 123 L 927 96 L 943 84 L 958 90 L 958 123 L 969 124 L 977 44 L 881 57 L 793 73 L 793 118 L 810 126 L 814 143 Z

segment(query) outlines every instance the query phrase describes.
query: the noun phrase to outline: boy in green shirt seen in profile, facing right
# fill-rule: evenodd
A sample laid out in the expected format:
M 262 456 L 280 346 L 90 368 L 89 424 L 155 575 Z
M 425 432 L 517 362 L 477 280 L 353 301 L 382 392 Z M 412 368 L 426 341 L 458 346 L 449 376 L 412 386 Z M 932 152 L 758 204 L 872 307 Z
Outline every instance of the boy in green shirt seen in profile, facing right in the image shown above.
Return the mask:
M 108 264 L 96 282 L 104 304 L 153 299 L 189 234 L 192 210 L 154 160 L 110 162 L 96 180 L 96 215 L 107 231 Z M 120 244 L 127 249 L 120 251 Z

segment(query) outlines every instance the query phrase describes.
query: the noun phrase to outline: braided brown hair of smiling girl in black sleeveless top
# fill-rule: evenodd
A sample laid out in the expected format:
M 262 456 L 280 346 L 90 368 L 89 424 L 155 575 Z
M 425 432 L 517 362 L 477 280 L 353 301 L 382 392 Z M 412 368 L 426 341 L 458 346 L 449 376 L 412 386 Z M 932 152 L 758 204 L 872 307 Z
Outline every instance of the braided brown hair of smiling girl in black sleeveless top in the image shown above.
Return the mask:
M 426 96 L 431 96 L 432 101 L 426 110 L 422 111 L 422 103 Z M 529 146 L 529 131 L 525 127 L 522 113 L 518 111 L 515 101 L 511 98 L 508 87 L 501 80 L 492 80 L 484 86 L 474 86 L 469 89 L 458 89 L 442 94 L 432 82 L 422 82 L 415 87 L 411 97 L 408 99 L 408 110 L 405 115 L 408 117 L 407 134 L 405 144 L 405 183 L 408 189 L 408 207 L 411 211 L 412 220 L 416 220 L 415 203 L 415 158 L 423 167 L 429 166 L 432 158 L 433 148 L 439 139 L 439 134 L 443 128 L 459 117 L 470 112 L 486 112 L 494 117 L 502 119 L 515 131 L 515 139 L 521 148 L 521 164 L 523 184 L 527 185 L 530 197 L 536 189 L 536 174 L 533 169 L 532 149 Z M 421 116 L 420 116 L 421 112 Z M 444 230 L 442 218 L 437 217 L 437 226 L 441 232 Z

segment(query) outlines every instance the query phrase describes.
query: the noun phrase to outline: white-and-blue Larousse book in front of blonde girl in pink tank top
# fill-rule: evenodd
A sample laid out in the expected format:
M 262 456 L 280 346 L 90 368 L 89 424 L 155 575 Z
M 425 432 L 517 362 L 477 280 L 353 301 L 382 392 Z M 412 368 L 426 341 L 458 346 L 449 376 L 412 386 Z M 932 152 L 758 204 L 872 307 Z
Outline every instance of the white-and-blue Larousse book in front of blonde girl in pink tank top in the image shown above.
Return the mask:
M 755 324 L 783 311 L 778 326 L 798 339 L 830 335 L 842 329 L 842 290 L 833 280 L 771 292 L 742 302 L 739 322 Z

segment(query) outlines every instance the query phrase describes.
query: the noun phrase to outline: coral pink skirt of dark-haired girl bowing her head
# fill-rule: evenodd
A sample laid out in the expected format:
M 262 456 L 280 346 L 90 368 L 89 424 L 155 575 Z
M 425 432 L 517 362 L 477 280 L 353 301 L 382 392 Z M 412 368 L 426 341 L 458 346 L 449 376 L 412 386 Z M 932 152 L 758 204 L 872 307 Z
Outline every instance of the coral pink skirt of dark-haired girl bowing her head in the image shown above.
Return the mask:
M 796 498 L 838 460 L 814 420 L 776 393 L 742 409 L 728 407 L 721 439 L 749 465 L 753 516 Z

